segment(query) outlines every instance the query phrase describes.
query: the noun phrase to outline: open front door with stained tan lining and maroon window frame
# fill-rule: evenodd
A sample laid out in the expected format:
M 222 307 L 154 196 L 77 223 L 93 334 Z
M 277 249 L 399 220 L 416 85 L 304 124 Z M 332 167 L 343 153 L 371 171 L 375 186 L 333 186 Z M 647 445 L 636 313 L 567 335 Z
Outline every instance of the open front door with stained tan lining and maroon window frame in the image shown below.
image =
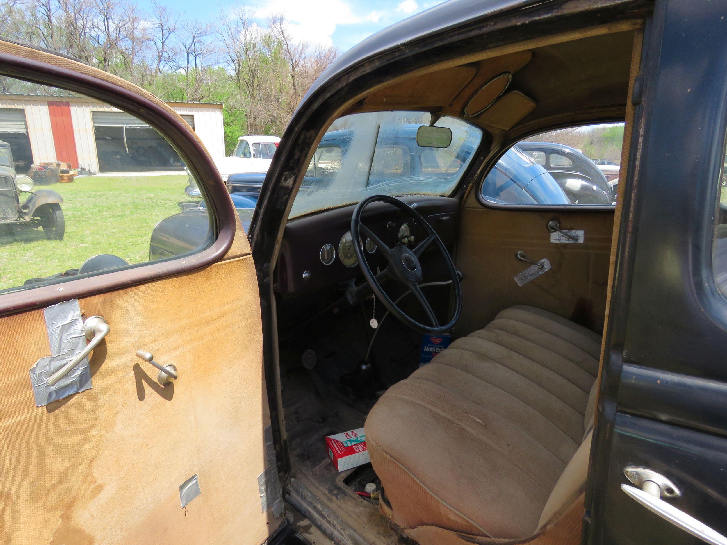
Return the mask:
M 268 540 L 284 517 L 257 276 L 204 145 L 163 102 L 81 62 L 0 41 L 0 77 L 39 169 L 55 152 L 61 176 L 134 172 L 56 184 L 63 202 L 36 215 L 0 173 L 0 543 Z M 180 212 L 185 167 L 206 207 Z M 150 251 L 175 212 L 198 247 Z

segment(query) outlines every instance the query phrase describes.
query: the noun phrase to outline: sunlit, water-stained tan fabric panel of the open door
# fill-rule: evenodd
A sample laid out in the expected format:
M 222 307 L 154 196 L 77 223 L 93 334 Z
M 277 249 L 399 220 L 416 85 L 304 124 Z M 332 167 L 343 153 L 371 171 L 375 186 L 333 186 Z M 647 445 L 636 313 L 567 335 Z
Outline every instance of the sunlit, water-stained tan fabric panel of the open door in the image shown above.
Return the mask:
M 38 408 L 28 368 L 49 346 L 43 310 L 2 318 L 0 543 L 260 544 L 278 525 L 257 477 L 269 425 L 252 257 L 92 296 L 111 326 L 93 388 Z M 134 356 L 180 378 L 161 388 Z M 198 475 L 186 509 L 179 486 Z

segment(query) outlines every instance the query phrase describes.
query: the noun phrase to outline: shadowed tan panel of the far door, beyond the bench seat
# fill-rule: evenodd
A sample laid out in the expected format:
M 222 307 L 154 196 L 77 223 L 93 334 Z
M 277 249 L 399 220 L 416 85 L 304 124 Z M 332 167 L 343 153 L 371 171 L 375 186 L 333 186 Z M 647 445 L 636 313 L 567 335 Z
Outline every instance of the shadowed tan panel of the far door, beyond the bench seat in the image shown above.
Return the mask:
M 551 243 L 547 224 L 552 219 L 563 229 L 585 231 L 585 242 Z M 613 219 L 611 211 L 466 206 L 457 243 L 457 269 L 464 275 L 457 336 L 485 327 L 498 312 L 515 304 L 555 312 L 601 333 Z M 533 261 L 547 257 L 552 270 L 518 286 L 513 277 L 529 267 L 515 259 L 518 250 Z

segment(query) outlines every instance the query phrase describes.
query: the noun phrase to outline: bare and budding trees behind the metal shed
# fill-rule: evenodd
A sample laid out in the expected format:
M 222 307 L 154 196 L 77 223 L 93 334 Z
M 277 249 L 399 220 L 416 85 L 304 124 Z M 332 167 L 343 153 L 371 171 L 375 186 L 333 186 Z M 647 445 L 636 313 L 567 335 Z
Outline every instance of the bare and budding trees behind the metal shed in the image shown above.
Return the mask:
M 156 1 L 143 10 L 124 0 L 2 0 L 0 35 L 76 57 L 162 100 L 224 102 L 228 152 L 242 134 L 280 135 L 338 55 L 294 39 L 283 15 L 260 23 L 245 6 L 201 23 Z

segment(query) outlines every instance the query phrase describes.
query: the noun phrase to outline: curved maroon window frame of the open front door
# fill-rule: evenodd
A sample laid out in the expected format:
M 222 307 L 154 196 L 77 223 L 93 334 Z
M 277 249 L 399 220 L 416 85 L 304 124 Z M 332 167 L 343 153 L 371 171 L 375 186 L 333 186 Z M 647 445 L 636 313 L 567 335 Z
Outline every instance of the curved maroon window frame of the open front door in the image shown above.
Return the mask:
M 204 180 L 199 187 L 209 211 L 214 241 L 192 255 L 144 262 L 124 270 L 0 294 L 0 316 L 188 273 L 211 265 L 228 253 L 235 237 L 235 209 L 204 145 L 180 116 L 148 92 L 102 70 L 44 51 L 6 45 L 9 47 L 0 50 L 0 75 L 103 100 L 145 121 L 164 135 L 185 162 L 190 174 Z M 32 52 L 34 58 L 21 56 L 28 55 L 28 52 Z

